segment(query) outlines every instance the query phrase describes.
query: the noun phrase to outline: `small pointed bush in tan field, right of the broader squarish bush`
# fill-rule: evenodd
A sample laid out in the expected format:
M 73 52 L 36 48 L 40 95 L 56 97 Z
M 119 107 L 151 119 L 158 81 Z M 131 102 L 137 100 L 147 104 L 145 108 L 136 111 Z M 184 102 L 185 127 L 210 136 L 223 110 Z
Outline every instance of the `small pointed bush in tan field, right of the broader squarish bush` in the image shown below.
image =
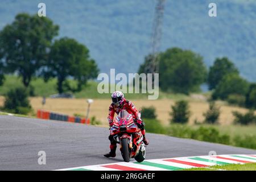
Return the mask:
M 220 117 L 220 107 L 216 106 L 215 102 L 210 102 L 209 110 L 203 115 L 205 117 L 205 122 L 210 124 L 216 123 Z

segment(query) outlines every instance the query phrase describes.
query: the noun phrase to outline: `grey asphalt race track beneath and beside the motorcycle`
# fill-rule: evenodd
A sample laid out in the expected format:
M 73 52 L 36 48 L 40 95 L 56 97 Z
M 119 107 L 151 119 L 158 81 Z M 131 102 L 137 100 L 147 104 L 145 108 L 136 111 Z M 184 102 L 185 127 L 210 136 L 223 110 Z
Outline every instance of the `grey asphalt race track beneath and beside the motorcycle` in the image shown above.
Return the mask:
M 63 121 L 0 116 L 0 170 L 53 170 L 92 164 L 122 162 L 117 150 L 109 151 L 109 130 L 105 127 Z M 147 134 L 150 145 L 146 159 L 221 154 L 256 154 L 256 150 Z M 38 164 L 38 152 L 46 152 L 46 165 Z

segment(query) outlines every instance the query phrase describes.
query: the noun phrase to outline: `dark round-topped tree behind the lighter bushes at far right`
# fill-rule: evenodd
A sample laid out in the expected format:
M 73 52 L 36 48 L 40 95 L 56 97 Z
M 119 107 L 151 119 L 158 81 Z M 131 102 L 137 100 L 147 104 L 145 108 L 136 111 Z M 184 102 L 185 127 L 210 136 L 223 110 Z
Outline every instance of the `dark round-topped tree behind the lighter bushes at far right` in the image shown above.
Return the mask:
M 239 71 L 228 57 L 217 58 L 209 70 L 209 89 L 215 89 L 221 79 L 229 73 L 236 73 L 238 75 Z

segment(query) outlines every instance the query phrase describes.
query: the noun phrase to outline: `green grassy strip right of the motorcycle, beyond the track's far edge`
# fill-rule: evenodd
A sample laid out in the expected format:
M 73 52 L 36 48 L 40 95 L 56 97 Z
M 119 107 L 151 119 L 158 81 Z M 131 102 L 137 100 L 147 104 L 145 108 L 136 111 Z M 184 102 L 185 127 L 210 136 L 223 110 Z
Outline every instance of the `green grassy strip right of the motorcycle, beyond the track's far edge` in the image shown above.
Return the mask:
M 163 126 L 156 119 L 144 119 L 148 133 L 165 134 L 171 137 L 188 138 L 205 142 L 228 144 L 230 146 L 256 149 L 256 126 L 215 126 L 199 125 L 190 126 L 182 124 L 171 124 Z M 231 129 L 221 130 L 220 127 Z M 243 131 L 241 131 L 241 128 Z M 235 133 L 235 134 L 233 134 Z

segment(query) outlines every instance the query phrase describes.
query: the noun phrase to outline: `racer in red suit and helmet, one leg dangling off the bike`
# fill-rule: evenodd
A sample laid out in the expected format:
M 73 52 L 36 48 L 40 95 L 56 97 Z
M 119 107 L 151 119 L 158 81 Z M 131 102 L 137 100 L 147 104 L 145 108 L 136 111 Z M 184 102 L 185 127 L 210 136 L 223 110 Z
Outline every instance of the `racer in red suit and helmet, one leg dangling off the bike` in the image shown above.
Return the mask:
M 112 104 L 109 106 L 109 115 L 108 115 L 108 121 L 109 121 L 109 126 L 111 127 L 113 125 L 113 119 L 114 119 L 114 114 L 117 113 L 119 114 L 119 111 L 122 109 L 125 109 L 129 114 L 133 115 L 134 121 L 137 124 L 138 128 L 141 129 L 141 133 L 143 135 L 143 142 L 144 144 L 148 144 L 149 141 L 145 137 L 145 123 L 141 119 L 141 113 L 135 108 L 132 102 L 127 101 L 125 99 L 125 96 L 122 92 L 120 91 L 115 91 L 112 93 Z M 113 135 L 109 135 L 109 140 L 110 140 L 110 152 L 108 154 L 105 154 L 104 156 L 106 158 L 115 157 L 115 150 L 117 148 L 117 142 L 114 139 Z

